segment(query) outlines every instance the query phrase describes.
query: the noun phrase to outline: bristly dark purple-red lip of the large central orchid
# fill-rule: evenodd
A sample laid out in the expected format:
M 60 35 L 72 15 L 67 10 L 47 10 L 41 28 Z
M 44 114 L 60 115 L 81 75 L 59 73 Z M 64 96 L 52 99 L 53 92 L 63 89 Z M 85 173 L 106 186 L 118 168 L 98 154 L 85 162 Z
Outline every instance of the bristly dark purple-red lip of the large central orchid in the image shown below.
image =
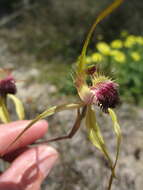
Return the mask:
M 104 112 L 108 112 L 108 108 L 115 108 L 119 103 L 118 84 L 107 81 L 96 84 L 91 87 L 94 93 L 93 103 L 96 103 Z

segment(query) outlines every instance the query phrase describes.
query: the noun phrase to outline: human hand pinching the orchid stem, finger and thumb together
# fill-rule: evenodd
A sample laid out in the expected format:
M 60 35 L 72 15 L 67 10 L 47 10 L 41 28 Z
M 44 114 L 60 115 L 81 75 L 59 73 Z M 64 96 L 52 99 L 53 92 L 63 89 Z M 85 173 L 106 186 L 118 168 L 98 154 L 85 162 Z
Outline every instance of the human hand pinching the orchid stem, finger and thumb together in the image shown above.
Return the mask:
M 25 128 L 29 121 L 16 121 L 0 125 L 0 154 Z M 0 190 L 40 190 L 44 178 L 58 158 L 55 149 L 47 145 L 29 148 L 27 145 L 43 137 L 48 124 L 41 120 L 28 129 L 3 157 L 11 163 L 0 175 Z

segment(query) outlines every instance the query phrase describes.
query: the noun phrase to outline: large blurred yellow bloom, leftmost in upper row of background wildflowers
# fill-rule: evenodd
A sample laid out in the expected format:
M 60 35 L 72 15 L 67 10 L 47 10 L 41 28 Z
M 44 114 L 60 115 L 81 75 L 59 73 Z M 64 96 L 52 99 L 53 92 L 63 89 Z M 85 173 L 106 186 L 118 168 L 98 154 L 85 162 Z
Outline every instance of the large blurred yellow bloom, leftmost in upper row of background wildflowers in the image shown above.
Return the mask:
M 107 43 L 99 42 L 96 47 L 98 51 L 102 53 L 103 55 L 110 55 L 111 49 Z

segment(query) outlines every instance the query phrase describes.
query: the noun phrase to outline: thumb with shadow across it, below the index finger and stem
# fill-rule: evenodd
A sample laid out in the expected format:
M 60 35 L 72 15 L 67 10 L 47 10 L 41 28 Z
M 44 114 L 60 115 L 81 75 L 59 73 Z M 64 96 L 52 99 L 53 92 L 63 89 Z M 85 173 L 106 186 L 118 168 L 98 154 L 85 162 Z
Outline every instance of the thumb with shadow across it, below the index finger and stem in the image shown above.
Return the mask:
M 25 151 L 0 176 L 0 190 L 39 190 L 57 158 L 56 150 L 46 145 Z

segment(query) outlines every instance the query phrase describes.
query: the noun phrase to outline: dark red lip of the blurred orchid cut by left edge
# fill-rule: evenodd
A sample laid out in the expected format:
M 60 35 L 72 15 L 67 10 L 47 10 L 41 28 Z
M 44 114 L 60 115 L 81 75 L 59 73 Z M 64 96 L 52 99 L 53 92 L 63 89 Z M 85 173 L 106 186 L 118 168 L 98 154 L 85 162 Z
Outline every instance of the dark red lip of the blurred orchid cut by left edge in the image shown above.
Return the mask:
M 15 80 L 12 76 L 0 80 L 0 95 L 5 96 L 6 94 L 16 94 Z

